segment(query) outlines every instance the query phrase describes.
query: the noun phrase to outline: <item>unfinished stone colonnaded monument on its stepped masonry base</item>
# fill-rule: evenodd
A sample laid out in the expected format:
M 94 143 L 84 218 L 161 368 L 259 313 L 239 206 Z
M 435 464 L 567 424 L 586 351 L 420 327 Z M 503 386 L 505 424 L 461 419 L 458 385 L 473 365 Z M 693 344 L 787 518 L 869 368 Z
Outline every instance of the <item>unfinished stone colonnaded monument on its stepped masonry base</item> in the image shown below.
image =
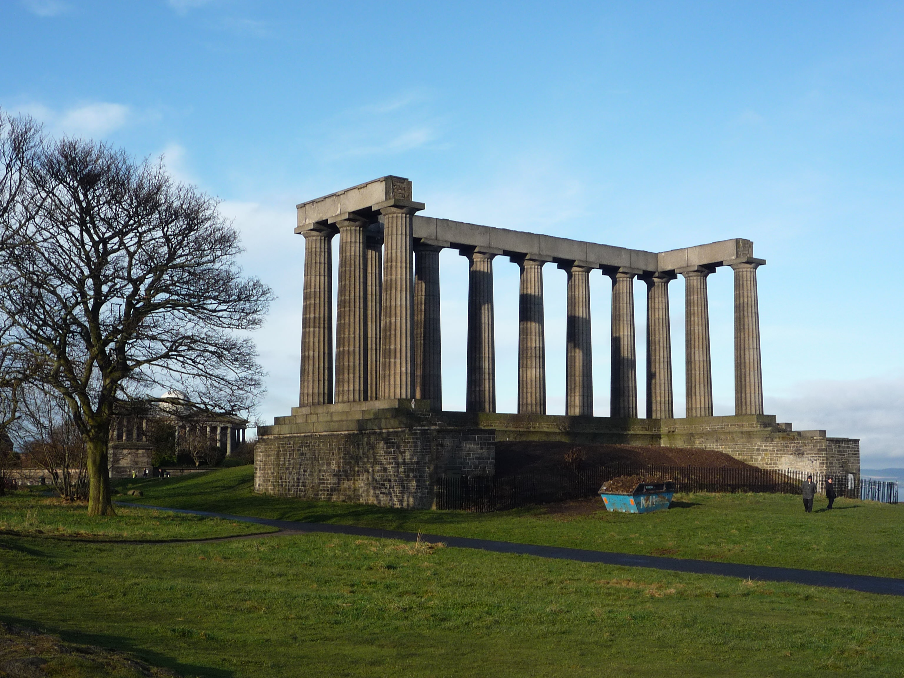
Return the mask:
M 417 214 L 397 176 L 297 206 L 306 240 L 299 405 L 259 428 L 255 489 L 428 507 L 438 476 L 494 474 L 496 440 L 717 449 L 754 466 L 860 475 L 859 441 L 763 412 L 750 240 L 649 252 Z M 339 235 L 333 336 L 332 241 Z M 466 411 L 442 410 L 439 259 L 468 259 Z M 520 268 L 518 412 L 495 411 L 493 259 Z M 546 414 L 543 267 L 568 277 L 566 414 Z M 735 414 L 712 416 L 707 278 L 734 277 Z M 612 281 L 611 416 L 593 416 L 592 275 Z M 669 283 L 685 285 L 687 418 L 673 412 Z M 638 412 L 635 279 L 645 282 L 646 402 Z M 335 364 L 334 364 L 335 356 Z

